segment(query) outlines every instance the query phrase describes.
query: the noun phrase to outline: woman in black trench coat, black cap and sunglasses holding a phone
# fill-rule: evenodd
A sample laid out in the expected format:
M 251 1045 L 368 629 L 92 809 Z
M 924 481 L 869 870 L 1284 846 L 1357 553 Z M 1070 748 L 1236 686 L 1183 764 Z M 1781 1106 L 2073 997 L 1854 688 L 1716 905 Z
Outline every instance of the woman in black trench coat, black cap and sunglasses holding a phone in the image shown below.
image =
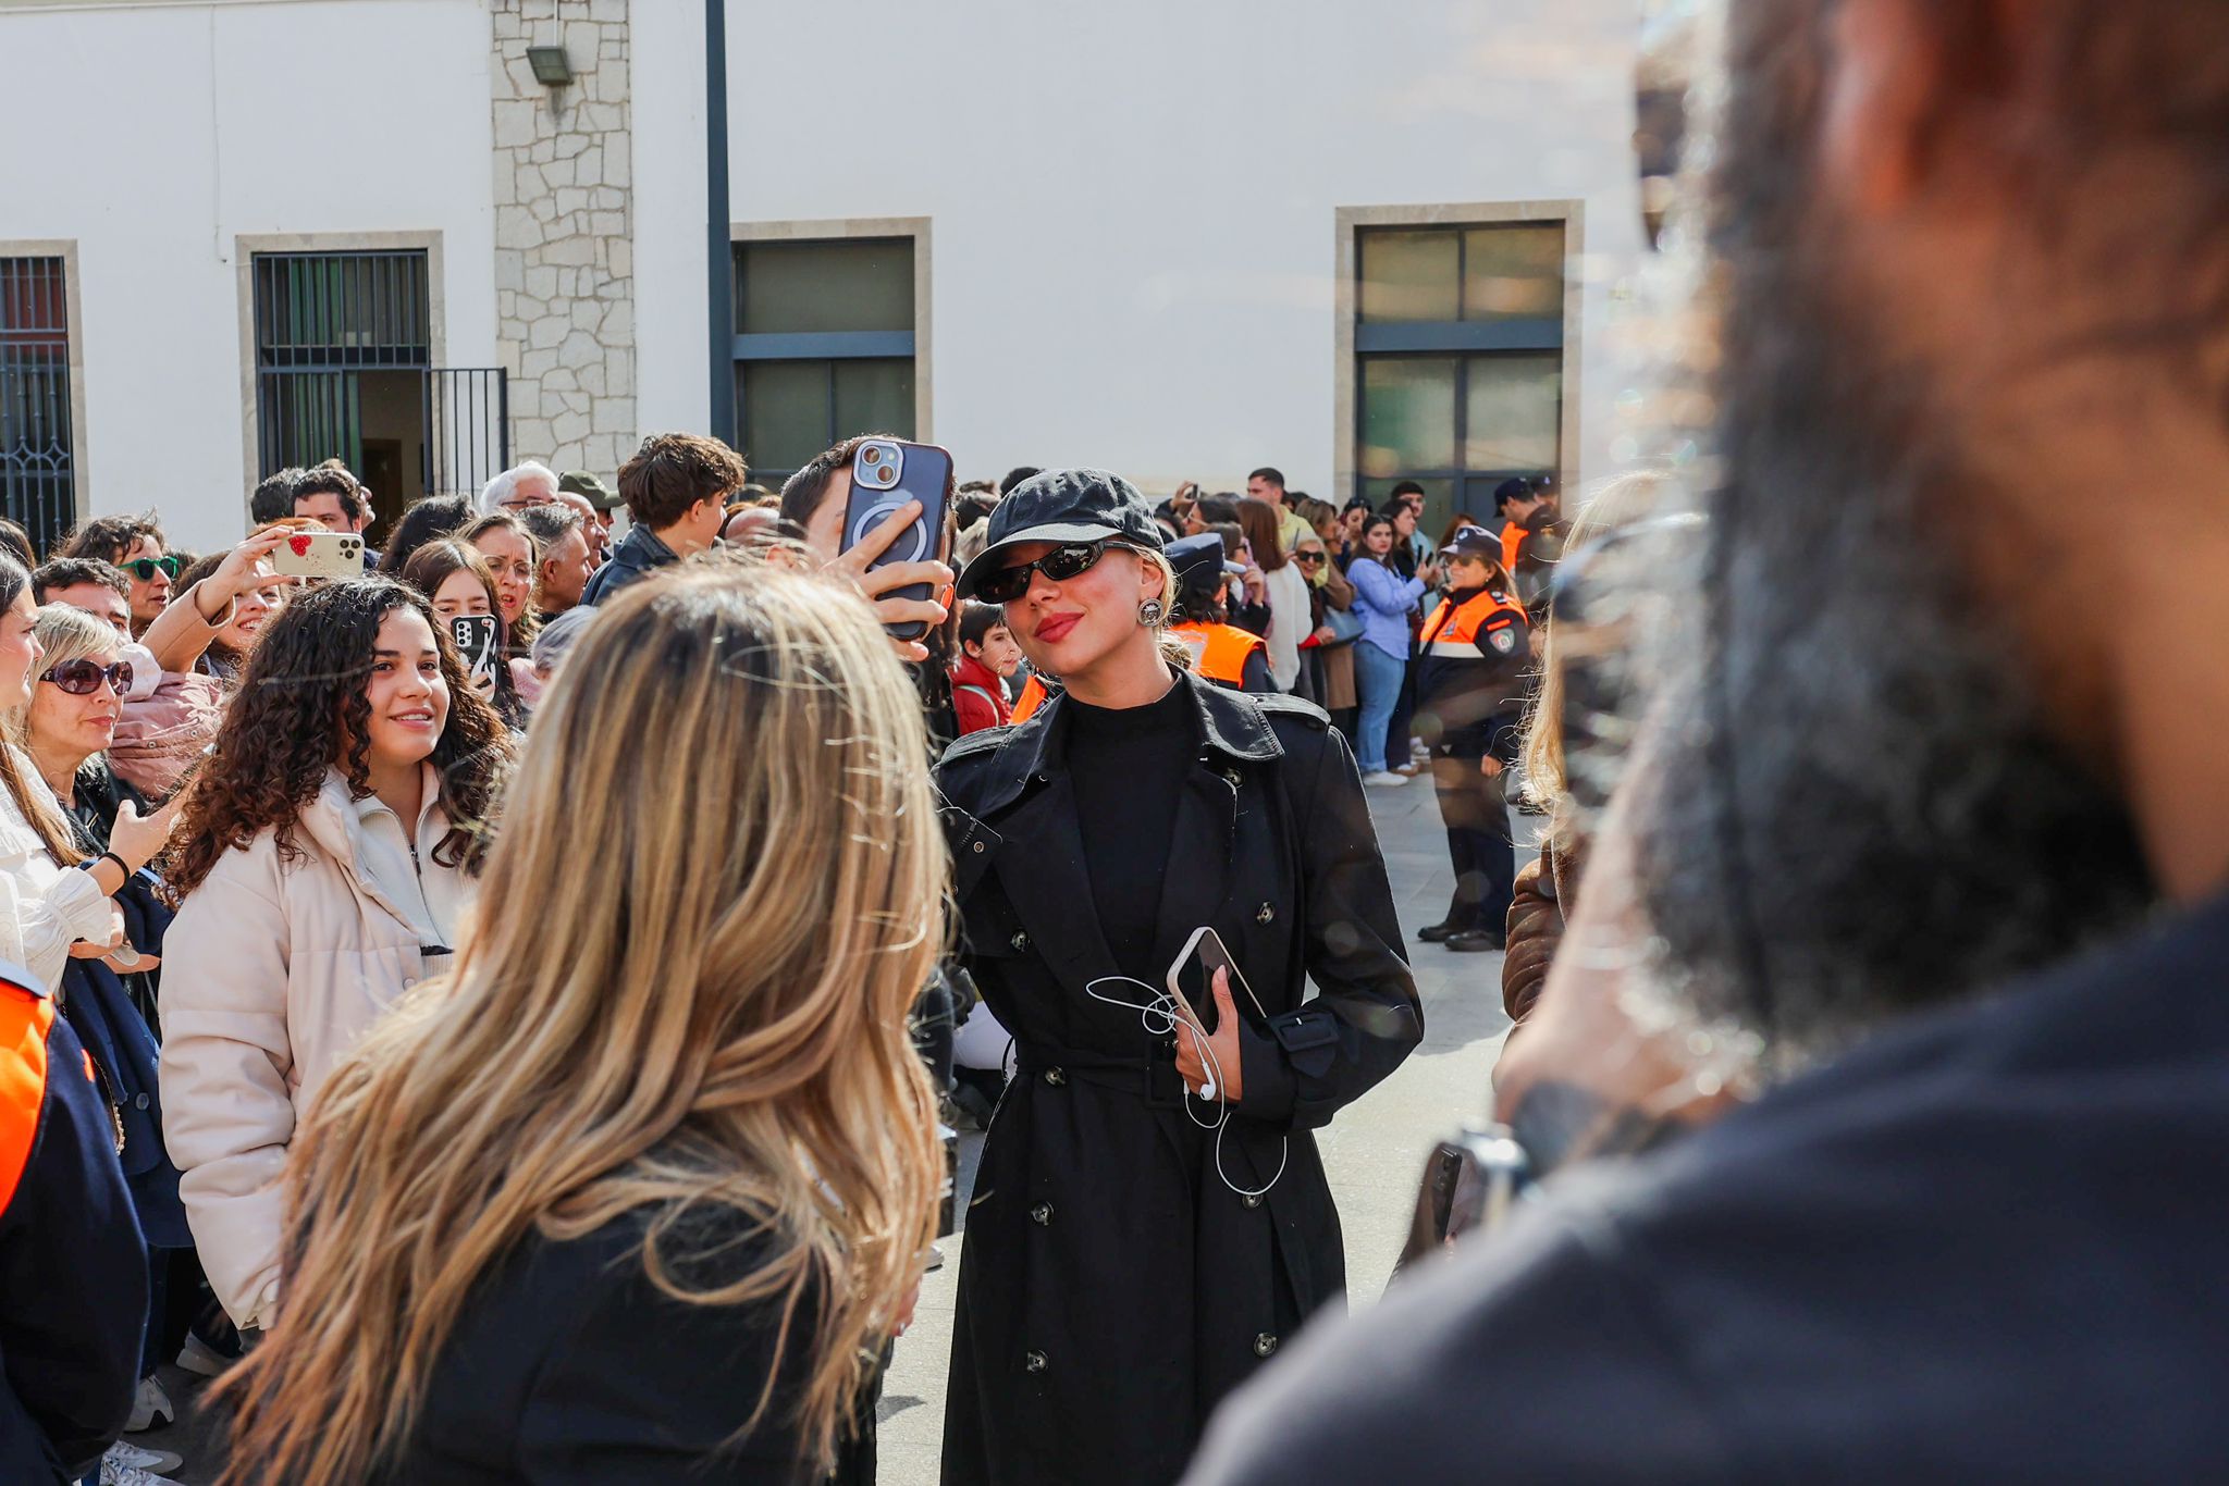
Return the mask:
M 1308 1132 L 1422 1036 L 1353 755 L 1315 706 L 1168 664 L 1159 548 L 1135 488 L 1061 470 L 1001 501 L 961 575 L 1065 691 L 938 769 L 963 958 L 1019 1060 L 967 1210 L 954 1484 L 1177 1479 L 1215 1404 L 1340 1297 Z M 1219 1141 L 1201 1056 L 1179 1072 L 1150 991 L 1106 980 L 1161 989 L 1201 925 L 1266 1009 L 1208 1043 Z

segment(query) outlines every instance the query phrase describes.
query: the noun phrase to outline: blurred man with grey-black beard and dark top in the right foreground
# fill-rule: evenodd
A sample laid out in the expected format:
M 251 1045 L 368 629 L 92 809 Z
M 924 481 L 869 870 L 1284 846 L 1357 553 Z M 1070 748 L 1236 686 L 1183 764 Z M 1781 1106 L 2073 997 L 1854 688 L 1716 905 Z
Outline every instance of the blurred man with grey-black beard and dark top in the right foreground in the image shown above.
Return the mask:
M 2229 9 L 1725 11 L 1696 662 L 1542 1016 L 1616 967 L 1772 1087 L 1302 1337 L 1193 1482 L 2229 1459 Z

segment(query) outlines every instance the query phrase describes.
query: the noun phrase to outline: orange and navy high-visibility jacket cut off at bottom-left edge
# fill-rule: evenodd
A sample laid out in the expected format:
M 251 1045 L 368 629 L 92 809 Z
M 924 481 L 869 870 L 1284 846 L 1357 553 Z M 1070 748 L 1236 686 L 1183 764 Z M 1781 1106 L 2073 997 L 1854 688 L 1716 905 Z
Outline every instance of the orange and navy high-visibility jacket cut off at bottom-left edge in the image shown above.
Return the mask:
M 147 1250 L 116 1112 L 36 987 L 0 967 L 0 1479 L 74 1482 L 132 1417 Z

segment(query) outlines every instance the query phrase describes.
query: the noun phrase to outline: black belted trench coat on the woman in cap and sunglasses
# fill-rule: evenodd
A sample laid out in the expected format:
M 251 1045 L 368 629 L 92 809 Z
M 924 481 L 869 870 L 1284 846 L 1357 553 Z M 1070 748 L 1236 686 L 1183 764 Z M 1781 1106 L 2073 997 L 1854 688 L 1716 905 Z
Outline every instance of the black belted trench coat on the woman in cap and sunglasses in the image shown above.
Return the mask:
M 1266 1199 L 1233 1192 L 1184 1107 L 1175 1043 L 1086 996 L 1114 962 L 1090 907 L 1063 702 L 954 744 L 938 782 L 963 958 L 1021 1072 L 967 1210 L 945 1482 L 1175 1479 L 1215 1404 L 1344 1290 L 1308 1132 L 1422 1036 L 1346 744 L 1306 702 L 1179 686 L 1199 762 L 1170 833 L 1155 962 L 1199 925 L 1230 947 L 1268 1023 L 1244 1032 L 1246 1096 L 1221 1165 L 1257 1190 L 1288 1141 L 1286 1167 Z

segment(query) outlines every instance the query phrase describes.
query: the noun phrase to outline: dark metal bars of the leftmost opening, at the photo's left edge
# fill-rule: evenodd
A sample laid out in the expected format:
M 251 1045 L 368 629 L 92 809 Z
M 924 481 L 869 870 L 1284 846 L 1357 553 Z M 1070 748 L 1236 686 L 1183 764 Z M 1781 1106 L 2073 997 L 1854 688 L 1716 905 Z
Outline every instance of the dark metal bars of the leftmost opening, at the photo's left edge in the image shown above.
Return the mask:
M 0 510 L 40 553 L 78 521 L 60 258 L 0 258 Z

